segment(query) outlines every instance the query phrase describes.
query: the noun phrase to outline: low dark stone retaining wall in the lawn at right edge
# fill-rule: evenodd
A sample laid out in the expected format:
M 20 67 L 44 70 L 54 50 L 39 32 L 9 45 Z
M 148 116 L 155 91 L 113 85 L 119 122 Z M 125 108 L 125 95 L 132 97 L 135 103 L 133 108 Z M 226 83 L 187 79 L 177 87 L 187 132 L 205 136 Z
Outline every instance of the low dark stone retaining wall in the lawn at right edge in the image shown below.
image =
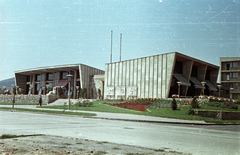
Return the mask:
M 208 111 L 194 110 L 195 114 L 202 117 L 217 118 L 219 120 L 240 120 L 240 112 L 234 111 Z

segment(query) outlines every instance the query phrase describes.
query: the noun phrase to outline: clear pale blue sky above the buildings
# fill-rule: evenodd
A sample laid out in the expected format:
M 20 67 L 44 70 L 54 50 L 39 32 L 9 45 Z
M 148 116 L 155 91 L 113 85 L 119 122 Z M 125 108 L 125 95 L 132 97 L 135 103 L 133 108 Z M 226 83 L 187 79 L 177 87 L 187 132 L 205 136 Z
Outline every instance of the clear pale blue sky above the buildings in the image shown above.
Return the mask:
M 182 54 L 240 57 L 239 0 L 0 0 L 0 80 L 64 64 Z

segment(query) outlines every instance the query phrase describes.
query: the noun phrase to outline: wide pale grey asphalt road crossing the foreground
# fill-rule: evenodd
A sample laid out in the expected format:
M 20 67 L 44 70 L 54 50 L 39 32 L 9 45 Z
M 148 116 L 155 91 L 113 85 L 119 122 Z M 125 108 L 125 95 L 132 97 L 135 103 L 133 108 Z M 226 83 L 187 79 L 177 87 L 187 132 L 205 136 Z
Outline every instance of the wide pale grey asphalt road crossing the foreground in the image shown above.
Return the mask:
M 240 154 L 239 125 L 141 123 L 0 111 L 0 134 L 49 134 L 192 154 Z

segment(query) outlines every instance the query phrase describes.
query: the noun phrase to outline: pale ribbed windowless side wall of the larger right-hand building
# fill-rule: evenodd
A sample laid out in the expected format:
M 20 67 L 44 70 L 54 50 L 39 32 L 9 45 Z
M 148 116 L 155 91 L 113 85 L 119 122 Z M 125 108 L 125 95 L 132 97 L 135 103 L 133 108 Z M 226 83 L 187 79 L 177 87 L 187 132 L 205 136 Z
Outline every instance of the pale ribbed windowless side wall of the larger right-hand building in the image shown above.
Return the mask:
M 125 98 L 167 98 L 175 55 L 168 53 L 106 64 L 105 90 L 114 89 L 114 95 L 105 94 L 105 98 L 119 98 L 116 91 L 119 86 L 124 86 Z

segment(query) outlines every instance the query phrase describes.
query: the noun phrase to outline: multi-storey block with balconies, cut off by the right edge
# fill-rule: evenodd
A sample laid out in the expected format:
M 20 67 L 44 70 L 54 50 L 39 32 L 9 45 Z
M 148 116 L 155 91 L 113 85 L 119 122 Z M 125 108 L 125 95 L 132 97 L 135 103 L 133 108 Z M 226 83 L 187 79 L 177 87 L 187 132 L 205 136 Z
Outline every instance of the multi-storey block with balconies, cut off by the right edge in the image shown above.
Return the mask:
M 230 87 L 230 98 L 240 97 L 240 57 L 220 58 L 220 81 Z

